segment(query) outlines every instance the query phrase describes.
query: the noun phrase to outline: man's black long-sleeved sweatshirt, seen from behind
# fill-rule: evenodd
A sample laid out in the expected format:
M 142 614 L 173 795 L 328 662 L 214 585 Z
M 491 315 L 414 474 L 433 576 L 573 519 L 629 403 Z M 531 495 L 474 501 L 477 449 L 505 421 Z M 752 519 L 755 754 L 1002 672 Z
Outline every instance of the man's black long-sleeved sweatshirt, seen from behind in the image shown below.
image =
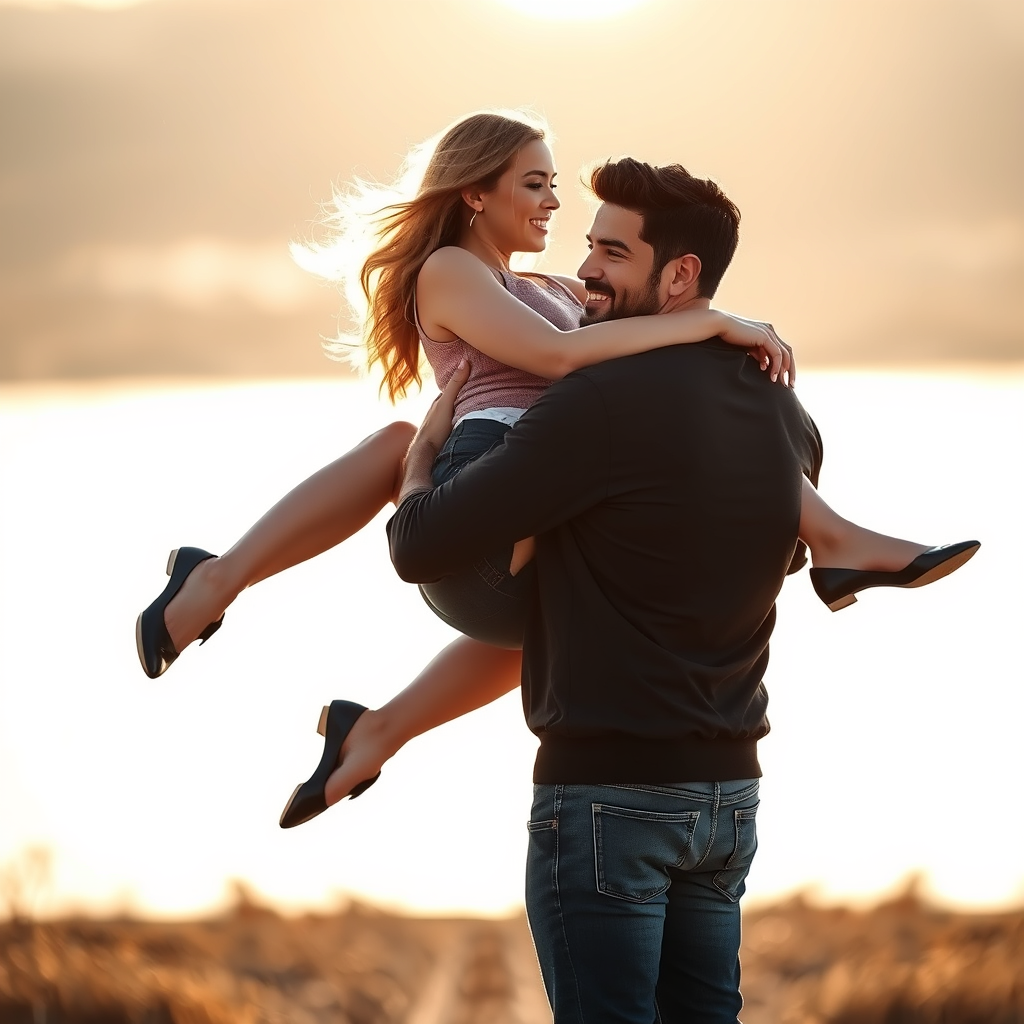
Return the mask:
M 522 697 L 542 783 L 761 774 L 775 598 L 798 552 L 817 429 L 719 339 L 553 384 L 505 443 L 388 523 L 426 583 L 537 538 Z

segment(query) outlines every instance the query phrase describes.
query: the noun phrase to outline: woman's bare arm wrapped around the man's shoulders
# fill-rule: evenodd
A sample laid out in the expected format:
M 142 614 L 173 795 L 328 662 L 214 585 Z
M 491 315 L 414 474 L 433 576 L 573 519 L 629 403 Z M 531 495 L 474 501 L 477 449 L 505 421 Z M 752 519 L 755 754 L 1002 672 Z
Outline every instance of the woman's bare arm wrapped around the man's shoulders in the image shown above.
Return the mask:
M 755 350 L 762 367 L 770 367 L 773 380 L 790 369 L 787 348 L 765 326 L 717 309 L 634 316 L 560 331 L 510 295 L 475 256 L 454 246 L 437 250 L 424 263 L 417 306 L 421 323 L 428 327 L 440 327 L 492 358 L 549 380 L 605 359 L 716 336 Z

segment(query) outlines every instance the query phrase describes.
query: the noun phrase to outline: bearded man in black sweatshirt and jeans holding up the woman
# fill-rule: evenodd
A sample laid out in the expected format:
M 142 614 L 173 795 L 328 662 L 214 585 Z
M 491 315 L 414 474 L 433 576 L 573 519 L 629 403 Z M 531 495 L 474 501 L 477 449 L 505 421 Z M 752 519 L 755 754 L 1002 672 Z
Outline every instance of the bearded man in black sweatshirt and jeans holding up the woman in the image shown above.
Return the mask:
M 713 182 L 621 160 L 592 188 L 585 322 L 710 304 L 739 220 Z M 410 450 L 392 559 L 425 582 L 537 537 L 526 902 L 556 1024 L 735 1022 L 762 676 L 814 425 L 717 339 L 570 374 L 432 490 L 443 419 Z

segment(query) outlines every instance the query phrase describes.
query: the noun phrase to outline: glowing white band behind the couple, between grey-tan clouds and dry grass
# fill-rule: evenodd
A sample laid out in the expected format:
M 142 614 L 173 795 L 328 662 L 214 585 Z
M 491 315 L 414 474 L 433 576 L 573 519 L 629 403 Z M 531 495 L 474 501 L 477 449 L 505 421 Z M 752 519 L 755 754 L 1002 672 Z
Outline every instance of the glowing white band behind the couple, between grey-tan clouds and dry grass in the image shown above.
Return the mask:
M 516 694 L 415 741 L 358 800 L 278 827 L 319 758 L 321 705 L 382 703 L 454 635 L 394 575 L 383 518 L 244 594 L 165 677 L 137 663 L 135 616 L 167 551 L 222 550 L 394 417 L 374 390 L 3 389 L 0 487 L 31 501 L 0 507 L 0 872 L 51 849 L 40 910 L 196 913 L 231 878 L 293 908 L 341 892 L 419 910 L 520 900 L 536 743 Z M 1024 769 L 1024 376 L 806 374 L 800 392 L 837 509 L 983 547 L 948 580 L 837 614 L 806 572 L 787 582 L 750 899 L 808 886 L 873 899 L 922 870 L 948 902 L 1019 901 L 1024 818 L 989 783 Z M 397 415 L 418 418 L 429 396 Z M 155 474 L 167 452 L 190 453 L 187 471 Z M 983 871 L 965 866 L 976 822 L 998 822 Z

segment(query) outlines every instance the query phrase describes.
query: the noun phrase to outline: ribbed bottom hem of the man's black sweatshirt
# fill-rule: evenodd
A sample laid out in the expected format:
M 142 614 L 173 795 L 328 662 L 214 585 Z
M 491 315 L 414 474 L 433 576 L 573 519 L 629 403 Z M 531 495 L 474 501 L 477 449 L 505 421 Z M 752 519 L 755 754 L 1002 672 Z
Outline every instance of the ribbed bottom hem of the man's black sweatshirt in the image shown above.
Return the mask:
M 534 781 L 542 785 L 727 782 L 760 778 L 757 739 L 541 737 Z

